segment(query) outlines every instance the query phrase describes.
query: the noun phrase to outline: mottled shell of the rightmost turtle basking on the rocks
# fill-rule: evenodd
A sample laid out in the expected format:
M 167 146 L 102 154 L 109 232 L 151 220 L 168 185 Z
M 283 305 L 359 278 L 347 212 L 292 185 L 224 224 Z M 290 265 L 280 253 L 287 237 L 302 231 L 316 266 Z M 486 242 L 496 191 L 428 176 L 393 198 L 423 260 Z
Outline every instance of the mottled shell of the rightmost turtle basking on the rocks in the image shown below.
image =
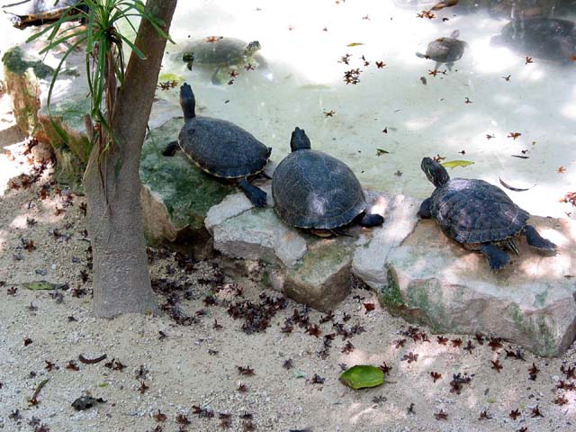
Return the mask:
M 466 245 L 513 237 L 530 217 L 500 187 L 468 178 L 438 187 L 430 198 L 430 213 L 448 236 Z

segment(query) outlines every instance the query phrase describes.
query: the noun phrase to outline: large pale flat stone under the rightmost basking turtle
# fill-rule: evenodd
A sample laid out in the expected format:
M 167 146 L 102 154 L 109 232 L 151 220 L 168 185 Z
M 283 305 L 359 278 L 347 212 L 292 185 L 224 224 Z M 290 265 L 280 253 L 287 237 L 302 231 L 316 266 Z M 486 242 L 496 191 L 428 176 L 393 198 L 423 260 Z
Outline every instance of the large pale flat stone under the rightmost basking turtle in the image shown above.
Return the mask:
M 558 356 L 576 336 L 576 223 L 533 217 L 530 223 L 559 246 L 544 257 L 518 241 L 519 256 L 491 272 L 482 254 L 422 220 L 387 257 L 380 300 L 406 320 L 442 332 L 482 332 L 540 356 Z

